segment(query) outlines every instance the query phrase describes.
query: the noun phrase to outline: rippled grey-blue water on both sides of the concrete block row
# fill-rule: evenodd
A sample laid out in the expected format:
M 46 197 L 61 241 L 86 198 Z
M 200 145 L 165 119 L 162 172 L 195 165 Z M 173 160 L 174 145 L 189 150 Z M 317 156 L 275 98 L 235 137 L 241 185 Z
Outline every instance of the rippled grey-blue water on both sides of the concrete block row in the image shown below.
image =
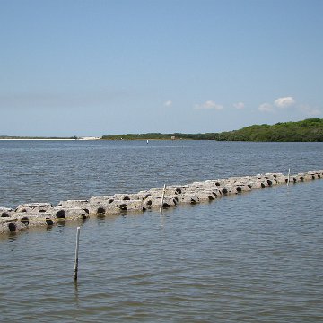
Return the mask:
M 317 170 L 322 160 L 321 143 L 0 142 L 0 205 Z M 320 179 L 3 235 L 0 321 L 322 322 L 322 189 Z

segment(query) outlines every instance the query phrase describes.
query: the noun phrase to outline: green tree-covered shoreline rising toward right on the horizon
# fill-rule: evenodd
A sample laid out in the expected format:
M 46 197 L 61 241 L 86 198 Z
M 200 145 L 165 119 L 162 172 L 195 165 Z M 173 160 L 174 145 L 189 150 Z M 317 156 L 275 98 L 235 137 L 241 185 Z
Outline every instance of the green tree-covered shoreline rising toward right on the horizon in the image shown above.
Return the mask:
M 273 126 L 253 125 L 240 130 L 206 134 L 126 134 L 103 135 L 108 140 L 135 139 L 193 139 L 258 142 L 323 142 L 323 118 L 309 118 L 297 122 L 278 122 Z

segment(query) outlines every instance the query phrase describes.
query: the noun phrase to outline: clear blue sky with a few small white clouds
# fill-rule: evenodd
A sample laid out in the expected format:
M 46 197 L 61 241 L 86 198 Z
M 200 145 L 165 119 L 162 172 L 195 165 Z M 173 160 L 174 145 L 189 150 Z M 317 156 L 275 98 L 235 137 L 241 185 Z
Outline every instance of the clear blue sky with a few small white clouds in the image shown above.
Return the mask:
M 0 135 L 323 118 L 322 0 L 0 0 Z

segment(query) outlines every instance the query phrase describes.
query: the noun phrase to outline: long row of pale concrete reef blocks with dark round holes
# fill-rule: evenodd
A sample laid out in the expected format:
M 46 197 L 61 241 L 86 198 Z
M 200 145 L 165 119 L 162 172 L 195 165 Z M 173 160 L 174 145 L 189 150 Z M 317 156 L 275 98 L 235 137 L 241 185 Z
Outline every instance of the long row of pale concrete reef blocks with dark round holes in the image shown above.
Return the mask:
M 137 194 L 115 194 L 113 196 L 92 196 L 89 200 L 66 200 L 57 206 L 49 203 L 19 205 L 14 210 L 0 207 L 0 233 L 26 230 L 32 226 L 53 226 L 91 216 L 104 217 L 127 213 L 142 213 L 148 209 L 159 210 L 178 205 L 196 205 L 214 201 L 223 196 L 242 194 L 255 188 L 266 188 L 279 184 L 291 184 L 323 178 L 323 170 L 309 171 L 296 175 L 266 173 L 255 176 L 231 177 L 206 180 L 188 185 L 171 185 L 166 188 L 163 202 L 163 188 L 152 188 Z

